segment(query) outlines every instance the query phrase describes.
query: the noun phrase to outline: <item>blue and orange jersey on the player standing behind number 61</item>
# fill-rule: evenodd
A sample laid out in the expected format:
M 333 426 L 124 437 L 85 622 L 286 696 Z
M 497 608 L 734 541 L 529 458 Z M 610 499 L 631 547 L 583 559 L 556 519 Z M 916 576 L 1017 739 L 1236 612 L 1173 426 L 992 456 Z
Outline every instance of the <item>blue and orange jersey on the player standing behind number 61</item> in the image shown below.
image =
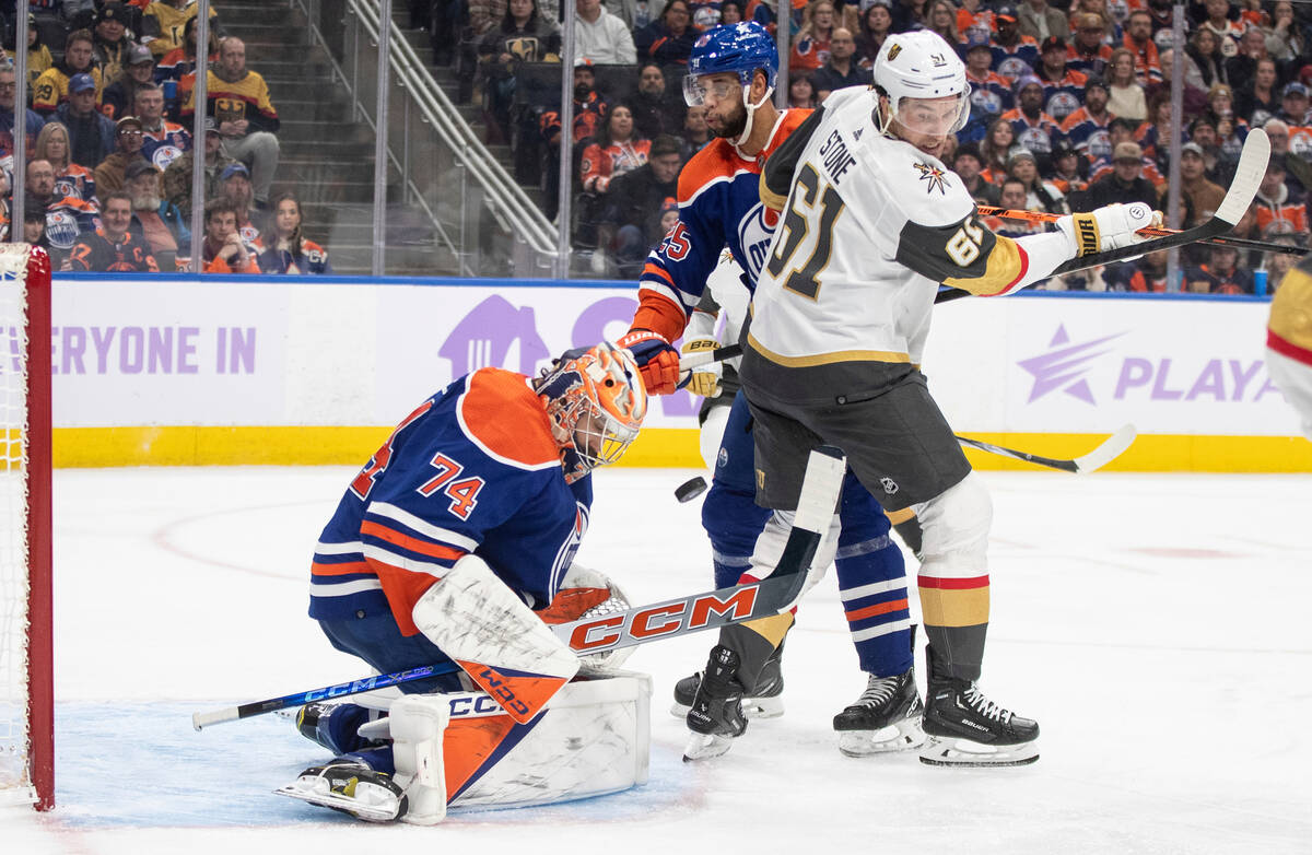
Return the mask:
M 761 168 L 808 115 L 811 110 L 786 110 L 753 159 L 715 139 L 687 161 L 678 176 L 678 222 L 647 257 L 634 327 L 669 341 L 682 336 L 726 247 L 747 271 L 747 287 L 756 287 L 778 223 L 778 210 L 761 201 Z

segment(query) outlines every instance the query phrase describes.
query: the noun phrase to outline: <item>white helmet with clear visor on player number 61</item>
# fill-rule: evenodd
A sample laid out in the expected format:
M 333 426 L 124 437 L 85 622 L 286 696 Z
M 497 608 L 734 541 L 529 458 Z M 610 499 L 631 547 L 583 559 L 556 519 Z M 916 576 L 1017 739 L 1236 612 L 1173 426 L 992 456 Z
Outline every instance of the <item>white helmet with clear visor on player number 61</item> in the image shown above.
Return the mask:
M 946 136 L 966 126 L 971 114 L 971 85 L 966 81 L 966 63 L 941 35 L 929 30 L 897 33 L 884 39 L 875 58 L 875 88 L 888 96 L 888 113 L 880 118 L 880 130 L 888 122 L 908 130 Z M 932 101 L 955 97 L 951 109 L 913 114 L 905 109 L 908 100 Z

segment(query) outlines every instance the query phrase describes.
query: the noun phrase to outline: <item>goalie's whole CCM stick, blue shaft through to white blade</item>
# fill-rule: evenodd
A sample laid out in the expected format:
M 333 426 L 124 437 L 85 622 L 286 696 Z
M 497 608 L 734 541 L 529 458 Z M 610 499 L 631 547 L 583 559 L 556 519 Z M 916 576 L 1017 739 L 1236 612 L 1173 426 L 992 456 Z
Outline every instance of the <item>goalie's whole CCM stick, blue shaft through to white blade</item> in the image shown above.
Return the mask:
M 811 452 L 806 476 L 802 480 L 802 493 L 798 496 L 798 511 L 792 521 L 792 530 L 783 547 L 783 556 L 770 576 L 756 582 L 722 587 L 705 594 L 666 599 L 601 618 L 563 623 L 551 627 L 551 629 L 579 653 L 600 653 L 647 644 L 659 639 L 672 639 L 687 632 L 718 629 L 731 623 L 756 620 L 787 611 L 802 597 L 806 587 L 811 561 L 820 547 L 820 540 L 829 530 L 834 507 L 838 505 L 838 493 L 842 489 L 842 475 L 846 468 L 846 458 L 832 446 L 821 446 Z M 316 700 L 345 698 L 425 677 L 450 674 L 457 670 L 459 669 L 453 662 L 425 665 L 392 674 L 311 688 L 281 698 L 256 700 L 237 707 L 195 712 L 192 713 L 192 726 L 201 730 L 213 724 L 251 719 L 266 712 L 302 707 Z

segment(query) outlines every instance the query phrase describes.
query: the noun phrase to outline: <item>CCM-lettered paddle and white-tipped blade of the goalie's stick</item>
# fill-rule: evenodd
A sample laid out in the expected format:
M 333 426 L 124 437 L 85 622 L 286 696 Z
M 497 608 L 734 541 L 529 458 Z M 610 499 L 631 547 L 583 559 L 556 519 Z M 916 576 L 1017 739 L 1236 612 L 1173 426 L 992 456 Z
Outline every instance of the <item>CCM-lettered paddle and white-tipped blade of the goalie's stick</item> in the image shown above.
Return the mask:
M 552 631 L 577 653 L 600 653 L 787 611 L 806 587 L 811 561 L 833 519 L 846 468 L 846 458 L 837 448 L 821 446 L 811 452 L 783 555 L 764 580 L 563 623 Z

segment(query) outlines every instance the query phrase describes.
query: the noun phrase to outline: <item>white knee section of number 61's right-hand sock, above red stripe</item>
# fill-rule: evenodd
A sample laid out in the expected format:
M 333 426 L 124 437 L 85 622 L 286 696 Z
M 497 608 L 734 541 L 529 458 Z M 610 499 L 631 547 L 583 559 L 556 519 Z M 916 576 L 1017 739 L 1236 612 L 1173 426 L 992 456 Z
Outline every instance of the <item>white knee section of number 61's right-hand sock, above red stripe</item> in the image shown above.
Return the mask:
M 922 532 L 921 576 L 968 578 L 988 573 L 993 501 L 975 472 L 913 510 Z

